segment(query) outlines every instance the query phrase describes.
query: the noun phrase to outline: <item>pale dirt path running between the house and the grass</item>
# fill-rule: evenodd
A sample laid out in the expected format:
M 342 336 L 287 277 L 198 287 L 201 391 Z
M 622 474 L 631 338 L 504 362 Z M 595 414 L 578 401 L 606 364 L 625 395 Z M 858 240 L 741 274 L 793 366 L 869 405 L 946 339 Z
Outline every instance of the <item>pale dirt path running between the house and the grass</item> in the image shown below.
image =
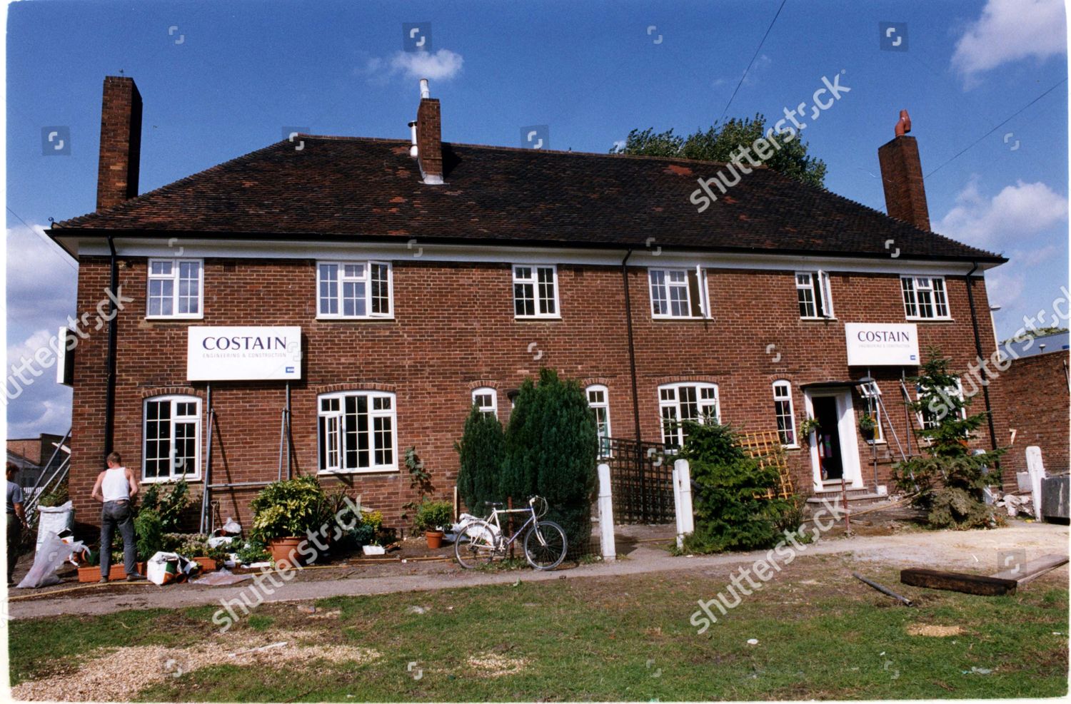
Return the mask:
M 633 536 L 636 534 L 633 533 Z M 880 562 L 887 565 L 929 567 L 991 575 L 998 571 L 998 553 L 1023 550 L 1032 560 L 1043 554 L 1068 554 L 1069 529 L 1049 523 L 1015 522 L 1010 527 L 994 531 L 912 532 L 901 535 L 830 538 L 803 546 L 801 558 L 820 554 L 849 554 L 861 563 Z M 552 572 L 510 570 L 501 572 L 465 571 L 452 563 L 394 563 L 396 569 L 377 566 L 375 573 L 361 567 L 342 567 L 334 572 L 322 570 L 315 579 L 311 570 L 289 582 L 277 580 L 280 586 L 263 582 L 265 601 L 301 601 L 331 596 L 421 592 L 481 584 L 513 583 L 517 579 L 538 582 L 556 579 L 614 577 L 642 572 L 724 569 L 726 579 L 736 565 L 750 564 L 763 552 L 734 553 L 714 556 L 669 555 L 659 542 L 636 542 L 629 531 L 618 538 L 618 554 L 613 563 L 595 563 Z M 790 569 L 790 567 L 789 567 Z M 1066 568 L 1062 568 L 1066 569 Z M 327 578 L 333 575 L 332 578 Z M 112 588 L 112 587 L 107 587 Z M 94 590 L 42 595 L 42 598 L 15 600 L 9 603 L 11 618 L 35 618 L 57 614 L 103 614 L 125 609 L 177 609 L 199 604 L 218 604 L 240 599 L 244 593 L 251 599 L 251 582 L 236 586 L 209 587 L 197 584 L 176 584 L 159 587 L 153 584 L 117 586 L 118 592 L 94 594 Z M 21 594 L 17 594 L 21 596 Z

